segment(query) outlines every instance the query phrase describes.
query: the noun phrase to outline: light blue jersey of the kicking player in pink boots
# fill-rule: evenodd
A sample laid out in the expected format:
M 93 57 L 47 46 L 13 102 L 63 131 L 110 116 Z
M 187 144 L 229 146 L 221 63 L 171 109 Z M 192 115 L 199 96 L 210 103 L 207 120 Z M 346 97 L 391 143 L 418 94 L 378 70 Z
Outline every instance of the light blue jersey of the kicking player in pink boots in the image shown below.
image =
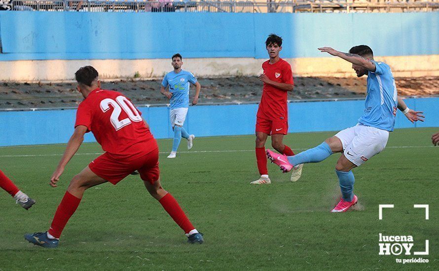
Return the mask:
M 375 72 L 367 75 L 365 111 L 360 123 L 381 130 L 393 131 L 398 106 L 395 79 L 389 65 L 374 62 Z

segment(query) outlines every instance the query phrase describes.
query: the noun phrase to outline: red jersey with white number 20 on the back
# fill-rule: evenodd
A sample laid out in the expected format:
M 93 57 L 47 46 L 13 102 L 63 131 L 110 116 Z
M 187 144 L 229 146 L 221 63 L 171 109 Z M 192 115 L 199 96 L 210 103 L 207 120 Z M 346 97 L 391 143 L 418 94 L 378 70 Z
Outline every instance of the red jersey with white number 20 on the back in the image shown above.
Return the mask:
M 79 104 L 74 127 L 86 126 L 109 154 L 135 159 L 158 147 L 141 115 L 121 93 L 95 89 Z

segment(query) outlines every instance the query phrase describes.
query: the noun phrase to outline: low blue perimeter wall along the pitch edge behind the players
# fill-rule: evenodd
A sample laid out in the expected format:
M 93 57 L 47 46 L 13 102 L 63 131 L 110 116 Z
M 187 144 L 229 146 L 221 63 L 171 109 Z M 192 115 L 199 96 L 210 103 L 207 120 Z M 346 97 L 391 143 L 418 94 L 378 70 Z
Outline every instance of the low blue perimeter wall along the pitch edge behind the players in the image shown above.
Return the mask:
M 396 128 L 439 127 L 439 98 L 405 100 L 425 112 L 425 122 L 411 124 L 398 112 Z M 363 113 L 364 101 L 289 103 L 289 133 L 338 131 L 354 126 Z M 168 107 L 140 107 L 156 138 L 172 137 Z M 197 136 L 252 135 L 257 104 L 191 106 L 185 122 Z M 73 133 L 76 110 L 0 112 L 0 146 L 65 143 Z M 86 142 L 94 141 L 87 134 Z

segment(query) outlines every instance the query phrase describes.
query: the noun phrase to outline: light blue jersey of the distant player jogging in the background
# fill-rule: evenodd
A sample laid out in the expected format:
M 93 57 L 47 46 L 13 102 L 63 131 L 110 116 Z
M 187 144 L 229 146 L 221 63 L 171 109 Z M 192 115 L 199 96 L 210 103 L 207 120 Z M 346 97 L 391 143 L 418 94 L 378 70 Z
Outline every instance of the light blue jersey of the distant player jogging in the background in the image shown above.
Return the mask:
M 172 93 L 170 100 L 171 109 L 189 107 L 189 86 L 195 84 L 197 79 L 192 72 L 181 70 L 179 73 L 168 72 L 162 81 L 162 86 L 169 86 Z

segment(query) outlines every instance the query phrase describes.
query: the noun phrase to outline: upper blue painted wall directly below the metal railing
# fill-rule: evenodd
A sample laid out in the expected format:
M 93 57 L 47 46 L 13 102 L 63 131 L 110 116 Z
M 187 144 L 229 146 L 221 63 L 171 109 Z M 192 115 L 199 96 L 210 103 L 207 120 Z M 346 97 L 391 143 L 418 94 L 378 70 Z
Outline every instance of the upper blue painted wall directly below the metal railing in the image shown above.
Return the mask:
M 2 11 L 0 61 L 167 59 L 176 51 L 187 58 L 260 59 L 270 33 L 284 37 L 284 58 L 322 57 L 317 47 L 353 44 L 368 44 L 380 56 L 439 54 L 439 12 Z

